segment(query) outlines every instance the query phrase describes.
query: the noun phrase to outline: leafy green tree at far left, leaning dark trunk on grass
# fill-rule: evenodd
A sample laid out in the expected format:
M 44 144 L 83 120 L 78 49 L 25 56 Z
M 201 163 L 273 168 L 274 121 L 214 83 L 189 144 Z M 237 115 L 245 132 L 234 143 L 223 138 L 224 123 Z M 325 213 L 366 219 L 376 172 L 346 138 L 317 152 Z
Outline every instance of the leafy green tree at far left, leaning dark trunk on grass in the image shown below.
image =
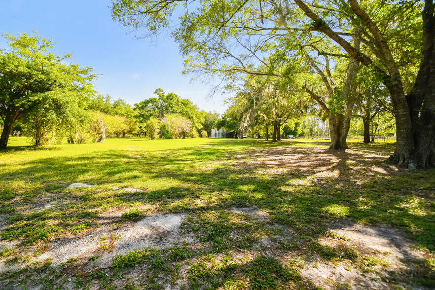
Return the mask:
M 90 81 L 95 77 L 89 67 L 67 65 L 71 54 L 58 56 L 50 52 L 52 40 L 37 34 L 4 36 L 10 49 L 0 50 L 0 118 L 4 125 L 0 148 L 6 148 L 14 123 L 24 115 L 50 97 L 71 100 L 92 94 Z

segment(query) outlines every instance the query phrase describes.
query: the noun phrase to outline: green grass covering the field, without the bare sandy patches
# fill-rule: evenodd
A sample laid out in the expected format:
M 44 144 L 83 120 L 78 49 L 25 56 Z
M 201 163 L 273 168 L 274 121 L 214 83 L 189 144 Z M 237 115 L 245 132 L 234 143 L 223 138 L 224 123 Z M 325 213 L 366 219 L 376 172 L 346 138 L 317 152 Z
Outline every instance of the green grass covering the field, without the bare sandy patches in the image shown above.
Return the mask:
M 117 288 L 160 289 L 176 283 L 183 267 L 186 289 L 284 289 L 290 284 L 315 288 L 300 276 L 294 260 L 283 258 L 285 253 L 307 261 L 319 257 L 348 263 L 354 271 L 382 271 L 388 265 L 382 258 L 319 242 L 325 237 L 348 241 L 326 231 L 328 223 L 340 219 L 398 227 L 414 247 L 434 254 L 434 170 L 383 173 L 382 162 L 394 148 L 391 143 L 350 143 L 354 152 L 376 153 L 376 157 L 349 153 L 343 159 L 326 152 L 327 142 L 309 141 L 126 138 L 35 148 L 23 138 L 12 137 L 9 149 L 0 151 L 0 219 L 8 225 L 1 238 L 19 244 L 1 248 L 0 258 L 16 257 L 15 262 L 27 265 L 29 273 L 44 273 L 48 289 L 64 285 L 60 277 L 68 275 L 79 288 L 97 281 L 100 288 L 110 289 L 118 281 Z M 308 164 L 289 168 L 286 162 L 279 163 L 282 153 L 275 152 L 287 149 Z M 314 150 L 329 158 L 329 175 L 321 174 L 322 164 L 315 157 L 304 157 Z M 275 165 L 263 157 L 270 157 Z M 95 186 L 67 189 L 74 182 Z M 230 211 L 243 207 L 262 211 L 268 221 Z M 195 236 L 199 245 L 138 249 L 116 256 L 106 272 L 75 273 L 67 267 L 60 277 L 50 273 L 54 271 L 50 265 L 40 269 L 20 254 L 35 249 L 37 256 L 52 238 L 91 233 L 109 211 L 120 212 L 110 216 L 114 225 L 155 212 L 187 213 L 182 230 Z M 291 236 L 276 238 L 285 234 L 275 224 L 291 228 Z M 259 255 L 261 248 L 255 245 L 262 239 L 276 242 L 275 251 L 282 258 Z M 108 241 L 100 243 L 109 250 Z M 240 253 L 248 252 L 256 255 L 240 258 Z M 98 257 L 89 262 L 98 262 Z M 70 262 L 72 267 L 80 260 Z M 435 276 L 433 258 L 412 263 L 419 269 L 417 282 L 412 283 L 430 285 Z M 129 269 L 137 265 L 145 265 L 145 278 L 128 281 Z M 23 271 L 3 274 L 0 280 L 28 285 L 30 278 Z M 171 271 L 172 276 L 162 274 Z

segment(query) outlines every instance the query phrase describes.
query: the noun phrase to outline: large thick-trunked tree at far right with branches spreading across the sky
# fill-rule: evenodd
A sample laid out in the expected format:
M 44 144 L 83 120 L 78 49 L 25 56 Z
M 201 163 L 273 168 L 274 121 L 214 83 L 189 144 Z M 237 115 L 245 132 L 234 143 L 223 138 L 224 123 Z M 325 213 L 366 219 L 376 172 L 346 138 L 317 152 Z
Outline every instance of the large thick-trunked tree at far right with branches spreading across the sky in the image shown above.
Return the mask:
M 116 0 L 112 15 L 124 25 L 154 33 L 168 28 L 175 8 L 184 5 L 186 12 L 174 36 L 186 55 L 187 71 L 220 77 L 273 74 L 256 68 L 264 55 L 278 48 L 278 40 L 312 44 L 312 36 L 320 37 L 338 46 L 338 53 L 325 54 L 360 62 L 388 88 L 397 125 L 397 147 L 390 161 L 409 168 L 435 166 L 434 0 L 361 4 L 357 0 L 205 0 L 192 8 L 181 0 Z M 352 45 L 351 38 L 359 38 L 362 49 Z M 412 45 L 403 39 L 411 39 Z M 421 55 L 414 62 L 418 73 L 406 94 L 400 61 L 401 52 L 410 50 L 420 50 Z

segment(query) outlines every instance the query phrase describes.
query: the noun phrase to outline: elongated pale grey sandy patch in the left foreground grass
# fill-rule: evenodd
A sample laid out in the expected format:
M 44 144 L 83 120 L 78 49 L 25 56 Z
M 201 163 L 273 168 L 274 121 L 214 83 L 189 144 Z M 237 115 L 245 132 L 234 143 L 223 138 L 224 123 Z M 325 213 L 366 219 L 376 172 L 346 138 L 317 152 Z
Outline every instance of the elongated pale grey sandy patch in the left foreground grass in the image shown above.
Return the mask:
M 163 249 L 178 242 L 194 241 L 193 236 L 181 232 L 180 225 L 184 218 L 185 215 L 182 214 L 155 214 L 121 227 L 106 226 L 80 237 L 54 239 L 48 243 L 47 251 L 34 261 L 43 261 L 50 257 L 52 264 L 58 266 L 70 257 L 88 259 L 101 254 L 98 265 L 108 267 L 117 254 L 127 254 L 128 251 L 144 249 L 147 246 Z M 11 245 L 4 246 L 10 248 Z M 4 262 L 2 259 L 0 267 L 5 271 L 19 268 L 17 264 Z

